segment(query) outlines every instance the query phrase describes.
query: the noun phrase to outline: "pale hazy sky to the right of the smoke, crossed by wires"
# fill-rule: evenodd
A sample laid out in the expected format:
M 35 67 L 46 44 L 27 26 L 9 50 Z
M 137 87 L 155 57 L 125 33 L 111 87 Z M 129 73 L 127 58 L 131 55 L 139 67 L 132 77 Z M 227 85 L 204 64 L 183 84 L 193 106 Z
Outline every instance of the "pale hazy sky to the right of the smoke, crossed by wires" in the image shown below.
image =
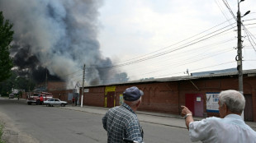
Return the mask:
M 100 51 L 130 81 L 236 68 L 237 10 L 236 0 L 106 0 L 98 9 Z M 241 15 L 247 11 L 244 70 L 256 69 L 255 0 L 240 2 Z

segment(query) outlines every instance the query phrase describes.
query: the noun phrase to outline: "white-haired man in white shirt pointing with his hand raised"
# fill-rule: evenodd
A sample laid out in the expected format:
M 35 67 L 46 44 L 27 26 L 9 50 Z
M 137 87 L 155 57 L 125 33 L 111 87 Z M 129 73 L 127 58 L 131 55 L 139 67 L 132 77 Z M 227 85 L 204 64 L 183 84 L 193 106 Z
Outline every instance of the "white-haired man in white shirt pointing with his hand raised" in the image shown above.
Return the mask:
M 206 118 L 194 122 L 192 112 L 182 106 L 191 141 L 256 143 L 256 132 L 241 118 L 244 95 L 236 90 L 225 90 L 219 95 L 220 118 Z

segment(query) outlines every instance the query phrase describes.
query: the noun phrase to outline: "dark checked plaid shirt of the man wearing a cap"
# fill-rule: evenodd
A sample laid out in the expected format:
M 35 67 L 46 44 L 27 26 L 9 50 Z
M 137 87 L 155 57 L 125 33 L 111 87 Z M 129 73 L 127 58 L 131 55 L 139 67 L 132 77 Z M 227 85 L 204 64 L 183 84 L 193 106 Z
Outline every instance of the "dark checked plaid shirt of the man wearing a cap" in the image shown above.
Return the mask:
M 102 123 L 107 131 L 108 143 L 124 142 L 124 137 L 133 141 L 143 141 L 143 130 L 137 115 L 127 104 L 109 109 L 102 118 Z

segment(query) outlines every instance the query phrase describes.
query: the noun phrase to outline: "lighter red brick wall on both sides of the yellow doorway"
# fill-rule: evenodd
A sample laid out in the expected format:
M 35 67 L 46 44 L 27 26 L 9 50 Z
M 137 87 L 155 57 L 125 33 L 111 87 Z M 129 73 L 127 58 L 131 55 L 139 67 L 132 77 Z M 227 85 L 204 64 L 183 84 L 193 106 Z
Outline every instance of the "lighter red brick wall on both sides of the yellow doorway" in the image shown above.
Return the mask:
M 120 95 L 126 88 L 134 85 L 116 85 L 116 106 L 119 105 Z M 156 111 L 162 113 L 178 113 L 178 86 L 177 84 L 150 83 L 135 85 L 143 90 L 142 104 L 139 110 Z M 84 94 L 83 103 L 92 106 L 104 106 L 105 87 L 90 87 Z

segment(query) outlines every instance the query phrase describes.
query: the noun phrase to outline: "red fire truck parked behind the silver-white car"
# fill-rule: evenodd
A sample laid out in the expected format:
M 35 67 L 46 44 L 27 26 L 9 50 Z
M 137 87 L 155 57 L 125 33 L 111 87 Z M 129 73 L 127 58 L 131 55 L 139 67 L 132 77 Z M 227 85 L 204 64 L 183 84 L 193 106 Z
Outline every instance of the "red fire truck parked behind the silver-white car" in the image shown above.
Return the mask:
M 26 103 L 27 104 L 43 104 L 43 102 L 40 102 L 40 96 L 43 97 L 43 101 L 53 98 L 53 95 L 48 92 L 34 93 L 33 95 L 28 96 L 28 98 L 26 99 Z

